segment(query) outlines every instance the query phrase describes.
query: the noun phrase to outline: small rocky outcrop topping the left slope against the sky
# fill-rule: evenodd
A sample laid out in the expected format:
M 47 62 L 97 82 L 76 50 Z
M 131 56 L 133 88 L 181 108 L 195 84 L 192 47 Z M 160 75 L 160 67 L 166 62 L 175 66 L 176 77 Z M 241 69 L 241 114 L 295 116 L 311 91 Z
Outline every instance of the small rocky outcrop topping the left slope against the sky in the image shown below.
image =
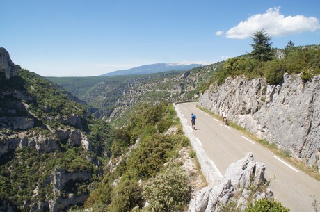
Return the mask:
M 0 74 L 3 74 L 6 79 L 17 76 L 17 69 L 13 64 L 13 61 L 11 61 L 8 51 L 3 47 L 0 47 Z

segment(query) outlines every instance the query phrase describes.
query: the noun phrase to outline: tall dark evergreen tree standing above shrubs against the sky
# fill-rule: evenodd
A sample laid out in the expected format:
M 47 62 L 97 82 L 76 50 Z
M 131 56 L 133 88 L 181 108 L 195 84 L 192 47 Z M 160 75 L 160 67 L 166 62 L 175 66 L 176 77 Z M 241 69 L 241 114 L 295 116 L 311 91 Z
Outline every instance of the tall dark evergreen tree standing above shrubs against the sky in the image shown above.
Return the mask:
M 273 49 L 271 47 L 272 42 L 270 42 L 271 37 L 262 29 L 261 31 L 257 31 L 253 34 L 252 37 L 253 51 L 251 52 L 251 56 L 259 61 L 268 61 L 272 60 L 273 57 Z

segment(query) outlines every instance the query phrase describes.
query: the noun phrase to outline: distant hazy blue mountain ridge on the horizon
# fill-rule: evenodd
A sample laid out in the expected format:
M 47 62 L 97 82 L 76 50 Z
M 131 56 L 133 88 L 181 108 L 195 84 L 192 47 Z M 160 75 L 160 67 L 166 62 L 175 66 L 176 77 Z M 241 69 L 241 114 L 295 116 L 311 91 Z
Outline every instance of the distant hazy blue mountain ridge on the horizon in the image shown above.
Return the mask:
M 121 76 L 121 75 L 134 75 L 134 74 L 155 74 L 159 72 L 168 71 L 186 71 L 195 67 L 200 67 L 205 64 L 200 63 L 155 63 L 150 65 L 142 65 L 133 67 L 128 70 L 118 70 L 100 76 Z M 207 65 L 207 64 L 206 64 Z

